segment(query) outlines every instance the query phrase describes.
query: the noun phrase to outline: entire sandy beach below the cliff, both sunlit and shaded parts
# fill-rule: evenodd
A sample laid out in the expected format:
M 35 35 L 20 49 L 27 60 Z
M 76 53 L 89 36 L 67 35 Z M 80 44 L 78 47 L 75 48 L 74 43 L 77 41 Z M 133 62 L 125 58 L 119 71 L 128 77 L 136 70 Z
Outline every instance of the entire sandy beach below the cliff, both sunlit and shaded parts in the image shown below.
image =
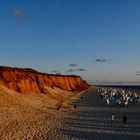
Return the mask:
M 53 98 L 15 94 L 6 88 L 0 92 L 1 140 L 140 139 L 140 106 L 103 105 L 95 88 L 76 96 L 65 92 L 60 110 L 56 110 L 60 104 L 56 98 L 62 96 L 58 89 Z M 110 123 L 111 113 L 115 114 L 114 124 Z M 127 127 L 122 123 L 123 113 L 128 117 Z

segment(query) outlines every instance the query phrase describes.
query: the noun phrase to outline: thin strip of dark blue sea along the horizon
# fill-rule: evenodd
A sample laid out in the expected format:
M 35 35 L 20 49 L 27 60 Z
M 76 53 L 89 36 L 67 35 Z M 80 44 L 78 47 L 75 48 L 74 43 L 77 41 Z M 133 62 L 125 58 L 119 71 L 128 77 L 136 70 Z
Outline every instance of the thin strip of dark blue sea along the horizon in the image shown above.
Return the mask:
M 97 85 L 99 86 L 99 85 Z M 140 85 L 100 85 L 101 87 L 122 88 L 128 90 L 140 90 Z

